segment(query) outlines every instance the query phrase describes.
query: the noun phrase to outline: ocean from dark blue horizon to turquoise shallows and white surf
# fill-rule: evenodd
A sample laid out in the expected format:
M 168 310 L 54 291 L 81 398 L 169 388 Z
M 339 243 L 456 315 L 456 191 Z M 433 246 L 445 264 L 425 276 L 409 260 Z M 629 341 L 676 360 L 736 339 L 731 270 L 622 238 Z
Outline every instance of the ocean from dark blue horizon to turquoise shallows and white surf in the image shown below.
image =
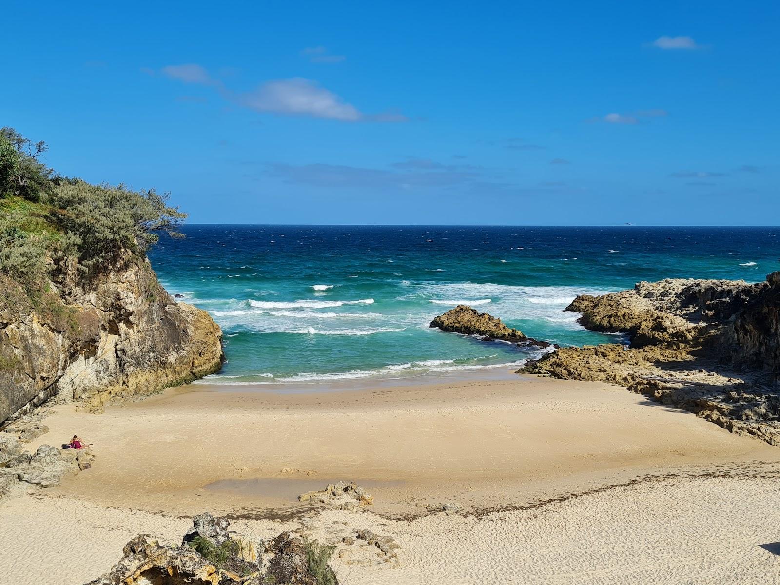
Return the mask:
M 780 229 L 190 225 L 151 262 L 168 292 L 207 310 L 225 384 L 487 371 L 537 350 L 427 325 L 457 303 L 561 345 L 615 342 L 563 308 L 582 293 L 660 278 L 762 280 Z

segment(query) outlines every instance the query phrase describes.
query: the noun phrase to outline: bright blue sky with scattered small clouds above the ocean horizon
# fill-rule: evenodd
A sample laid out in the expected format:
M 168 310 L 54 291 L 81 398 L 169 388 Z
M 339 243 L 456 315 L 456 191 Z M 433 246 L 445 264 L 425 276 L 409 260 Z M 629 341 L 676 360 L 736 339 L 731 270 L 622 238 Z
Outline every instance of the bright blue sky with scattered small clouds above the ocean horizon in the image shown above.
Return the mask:
M 0 124 L 191 222 L 780 223 L 778 2 L 114 4 L 5 5 Z

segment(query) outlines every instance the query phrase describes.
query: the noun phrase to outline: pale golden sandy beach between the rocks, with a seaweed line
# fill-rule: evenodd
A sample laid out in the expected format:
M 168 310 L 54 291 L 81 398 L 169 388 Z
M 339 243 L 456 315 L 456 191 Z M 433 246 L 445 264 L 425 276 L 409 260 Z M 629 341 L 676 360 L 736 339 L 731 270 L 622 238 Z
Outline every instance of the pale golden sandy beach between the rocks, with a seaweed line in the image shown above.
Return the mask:
M 100 415 L 55 406 L 29 447 L 77 433 L 96 460 L 0 505 L 2 581 L 83 583 L 135 534 L 179 541 L 207 510 L 256 537 L 392 534 L 396 565 L 339 544 L 349 583 L 780 582 L 778 449 L 624 388 L 234 388 L 169 389 Z M 374 505 L 297 502 L 339 479 Z

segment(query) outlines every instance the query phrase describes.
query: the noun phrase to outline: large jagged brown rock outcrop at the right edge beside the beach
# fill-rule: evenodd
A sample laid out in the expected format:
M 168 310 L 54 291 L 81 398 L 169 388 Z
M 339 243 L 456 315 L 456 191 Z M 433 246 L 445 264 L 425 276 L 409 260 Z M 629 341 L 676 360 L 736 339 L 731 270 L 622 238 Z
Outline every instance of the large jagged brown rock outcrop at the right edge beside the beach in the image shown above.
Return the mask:
M 780 272 L 766 282 L 668 279 L 566 310 L 617 344 L 568 347 L 520 371 L 626 385 L 736 434 L 780 445 Z

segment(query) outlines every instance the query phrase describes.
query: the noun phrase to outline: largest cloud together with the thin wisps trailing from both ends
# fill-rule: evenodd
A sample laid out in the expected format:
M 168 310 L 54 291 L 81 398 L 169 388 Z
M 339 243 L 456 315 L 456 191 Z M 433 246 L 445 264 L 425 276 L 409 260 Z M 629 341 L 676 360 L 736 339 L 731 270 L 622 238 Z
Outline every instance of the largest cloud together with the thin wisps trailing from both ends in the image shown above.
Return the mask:
M 211 76 L 204 67 L 189 63 L 169 65 L 161 69 L 162 75 L 182 83 L 194 83 L 215 87 L 222 97 L 256 112 L 281 115 L 302 115 L 313 118 L 339 120 L 340 122 L 407 122 L 401 112 L 388 110 L 378 114 L 360 112 L 338 94 L 321 87 L 313 80 L 293 77 L 261 83 L 255 90 L 236 94 Z

